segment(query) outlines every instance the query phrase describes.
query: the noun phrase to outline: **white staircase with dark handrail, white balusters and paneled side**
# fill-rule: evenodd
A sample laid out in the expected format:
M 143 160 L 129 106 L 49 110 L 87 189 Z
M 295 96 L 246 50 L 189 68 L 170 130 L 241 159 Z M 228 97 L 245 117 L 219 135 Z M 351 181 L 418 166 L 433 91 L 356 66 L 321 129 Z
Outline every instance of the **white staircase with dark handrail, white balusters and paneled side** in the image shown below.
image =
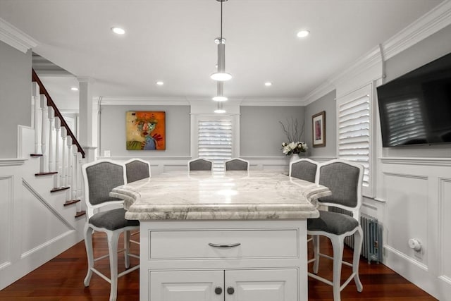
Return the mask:
M 18 159 L 0 162 L 0 290 L 80 242 L 86 220 L 85 152 L 34 70 L 31 85 L 32 126 L 18 126 Z

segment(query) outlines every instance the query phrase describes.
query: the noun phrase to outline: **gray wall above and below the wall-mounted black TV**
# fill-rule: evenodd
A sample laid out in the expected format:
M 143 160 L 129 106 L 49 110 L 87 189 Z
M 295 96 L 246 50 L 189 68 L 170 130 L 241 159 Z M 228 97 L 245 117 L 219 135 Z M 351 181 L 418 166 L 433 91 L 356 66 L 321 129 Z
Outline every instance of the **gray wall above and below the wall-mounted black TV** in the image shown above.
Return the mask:
M 436 32 L 418 44 L 388 59 L 387 78 L 393 80 L 404 73 L 423 66 L 451 52 L 451 25 Z M 383 156 L 451 157 L 451 144 L 391 147 L 383 149 Z

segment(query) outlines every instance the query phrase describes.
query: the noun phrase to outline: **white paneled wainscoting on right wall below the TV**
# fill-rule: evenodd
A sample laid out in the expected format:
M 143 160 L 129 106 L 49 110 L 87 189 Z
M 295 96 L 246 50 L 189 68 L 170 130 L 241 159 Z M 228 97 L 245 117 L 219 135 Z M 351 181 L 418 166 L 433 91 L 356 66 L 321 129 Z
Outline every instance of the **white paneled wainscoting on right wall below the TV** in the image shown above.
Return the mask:
M 451 159 L 385 158 L 381 173 L 384 263 L 451 300 Z M 409 247 L 412 238 L 421 250 Z

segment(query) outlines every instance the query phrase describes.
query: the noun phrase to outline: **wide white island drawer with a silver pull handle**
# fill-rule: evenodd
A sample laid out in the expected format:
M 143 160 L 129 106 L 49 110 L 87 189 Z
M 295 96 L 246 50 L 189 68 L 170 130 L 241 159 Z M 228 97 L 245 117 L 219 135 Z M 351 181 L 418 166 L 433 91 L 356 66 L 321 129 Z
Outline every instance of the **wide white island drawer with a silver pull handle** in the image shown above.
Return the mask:
M 296 229 L 150 231 L 149 259 L 297 257 L 298 239 Z

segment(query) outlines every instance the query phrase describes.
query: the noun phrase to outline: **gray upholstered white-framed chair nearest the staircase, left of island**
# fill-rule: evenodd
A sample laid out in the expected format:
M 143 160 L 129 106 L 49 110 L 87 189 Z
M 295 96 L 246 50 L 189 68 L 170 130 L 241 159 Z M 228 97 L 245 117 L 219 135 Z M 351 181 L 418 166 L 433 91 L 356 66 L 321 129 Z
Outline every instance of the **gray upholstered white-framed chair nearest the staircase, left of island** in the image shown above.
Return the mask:
M 116 300 L 118 278 L 128 274 L 140 265 L 130 267 L 130 257 L 140 258 L 136 254 L 129 252 L 130 231 L 139 230 L 140 222 L 125 219 L 125 209 L 123 207 L 108 209 L 106 206 L 123 204 L 122 199 L 109 196 L 109 192 L 116 186 L 126 183 L 125 168 L 111 160 L 93 161 L 82 166 L 82 176 L 85 185 L 85 203 L 87 207 L 87 221 L 85 223 L 85 247 L 87 253 L 88 269 L 84 284 L 89 286 L 92 273 L 101 276 L 110 283 L 110 301 Z M 99 209 L 102 209 L 101 211 Z M 92 233 L 99 231 L 106 233 L 108 240 L 109 254 L 94 258 L 92 246 Z M 118 250 L 118 239 L 124 233 L 124 248 Z M 118 252 L 124 252 L 125 271 L 118 274 Z M 101 273 L 94 263 L 99 259 L 109 257 L 110 276 Z

